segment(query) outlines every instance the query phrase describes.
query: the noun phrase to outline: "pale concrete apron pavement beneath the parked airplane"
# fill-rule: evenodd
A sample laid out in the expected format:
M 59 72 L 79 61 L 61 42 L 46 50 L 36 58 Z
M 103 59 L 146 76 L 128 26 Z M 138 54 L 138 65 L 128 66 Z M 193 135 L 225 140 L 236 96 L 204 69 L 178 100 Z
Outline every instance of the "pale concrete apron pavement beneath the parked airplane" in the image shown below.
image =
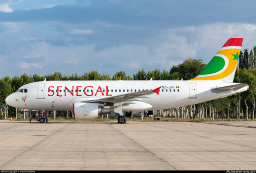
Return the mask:
M 0 120 L 2 170 L 256 170 L 256 122 Z

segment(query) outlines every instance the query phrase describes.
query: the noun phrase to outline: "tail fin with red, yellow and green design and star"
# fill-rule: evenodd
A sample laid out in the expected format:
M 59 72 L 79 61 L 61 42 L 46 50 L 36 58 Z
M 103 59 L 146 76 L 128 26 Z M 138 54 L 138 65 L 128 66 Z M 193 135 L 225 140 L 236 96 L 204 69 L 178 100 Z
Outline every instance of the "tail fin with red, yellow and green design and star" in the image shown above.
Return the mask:
M 243 38 L 229 39 L 203 71 L 191 80 L 233 82 Z

